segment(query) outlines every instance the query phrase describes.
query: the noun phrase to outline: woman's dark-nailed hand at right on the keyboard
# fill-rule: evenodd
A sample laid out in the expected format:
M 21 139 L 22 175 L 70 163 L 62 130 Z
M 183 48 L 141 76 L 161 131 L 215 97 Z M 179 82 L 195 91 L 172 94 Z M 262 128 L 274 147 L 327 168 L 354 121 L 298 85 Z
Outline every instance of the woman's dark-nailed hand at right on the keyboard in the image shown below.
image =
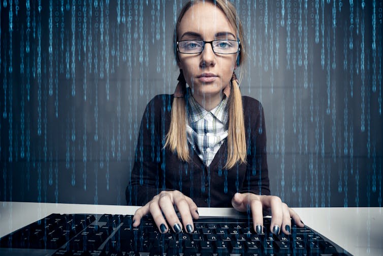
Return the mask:
M 280 227 L 286 235 L 291 234 L 291 218 L 299 227 L 304 227 L 304 224 L 299 215 L 278 196 L 274 195 L 257 195 L 252 193 L 235 193 L 232 198 L 234 209 L 240 212 L 251 210 L 254 231 L 263 233 L 263 208 L 271 209 L 271 224 L 270 232 L 275 235 L 279 234 Z

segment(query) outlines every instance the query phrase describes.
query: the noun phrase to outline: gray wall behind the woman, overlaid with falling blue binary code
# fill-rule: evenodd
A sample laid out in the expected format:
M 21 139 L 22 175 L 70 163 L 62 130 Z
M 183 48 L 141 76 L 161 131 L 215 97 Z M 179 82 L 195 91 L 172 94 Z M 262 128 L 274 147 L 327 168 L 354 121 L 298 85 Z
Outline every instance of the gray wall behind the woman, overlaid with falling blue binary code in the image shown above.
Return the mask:
M 126 204 L 146 103 L 177 83 L 183 2 L 2 1 L 1 201 Z M 382 2 L 233 3 L 272 193 L 292 207 L 380 207 Z

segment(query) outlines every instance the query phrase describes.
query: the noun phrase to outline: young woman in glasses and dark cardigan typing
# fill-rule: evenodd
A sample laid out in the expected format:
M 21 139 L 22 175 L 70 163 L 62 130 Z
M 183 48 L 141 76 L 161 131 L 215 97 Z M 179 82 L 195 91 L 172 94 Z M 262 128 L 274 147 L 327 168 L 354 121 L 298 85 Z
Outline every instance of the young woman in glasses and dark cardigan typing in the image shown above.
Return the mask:
M 182 226 L 190 233 L 198 207 L 232 206 L 251 211 L 257 233 L 267 208 L 274 234 L 290 234 L 291 218 L 304 226 L 270 195 L 263 108 L 241 96 L 234 73 L 245 59 L 244 42 L 230 2 L 190 1 L 182 8 L 174 35 L 179 82 L 173 95 L 148 103 L 126 188 L 127 203 L 143 206 L 134 226 L 150 213 L 162 233 Z

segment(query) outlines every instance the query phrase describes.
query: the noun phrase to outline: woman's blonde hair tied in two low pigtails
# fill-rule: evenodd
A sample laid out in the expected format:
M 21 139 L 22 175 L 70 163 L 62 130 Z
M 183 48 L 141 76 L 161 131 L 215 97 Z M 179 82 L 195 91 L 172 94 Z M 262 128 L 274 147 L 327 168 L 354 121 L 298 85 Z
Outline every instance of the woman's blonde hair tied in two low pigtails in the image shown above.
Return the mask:
M 178 28 L 181 22 L 183 15 L 186 11 L 195 3 L 204 3 L 210 2 L 218 7 L 228 18 L 229 23 L 236 30 L 239 41 L 241 42 L 241 50 L 238 54 L 237 66 L 241 66 L 245 61 L 245 40 L 243 36 L 242 23 L 238 18 L 237 12 L 233 4 L 227 0 L 193 0 L 188 1 L 181 9 L 180 14 L 178 15 L 176 27 L 174 30 L 174 54 L 177 63 L 179 63 L 179 58 L 176 50 L 176 42 L 178 41 Z M 182 84 L 183 88 L 186 88 L 186 81 L 183 77 L 182 70 L 179 82 Z M 229 107 L 229 125 L 228 125 L 228 159 L 224 168 L 230 169 L 235 166 L 236 163 L 246 163 L 246 138 L 245 138 L 245 125 L 243 117 L 243 106 L 242 106 L 242 96 L 239 90 L 239 84 L 237 79 L 234 79 L 235 75 L 233 74 L 231 82 L 231 92 L 228 99 Z M 172 110 L 171 110 L 171 122 L 169 127 L 169 132 L 166 135 L 166 141 L 164 147 L 169 147 L 169 149 L 176 153 L 178 158 L 182 161 L 190 161 L 189 149 L 187 147 L 187 137 L 186 137 L 186 100 L 185 97 L 175 97 L 173 99 Z M 182 132 L 181 132 L 182 131 Z M 184 132 L 183 132 L 184 131 Z

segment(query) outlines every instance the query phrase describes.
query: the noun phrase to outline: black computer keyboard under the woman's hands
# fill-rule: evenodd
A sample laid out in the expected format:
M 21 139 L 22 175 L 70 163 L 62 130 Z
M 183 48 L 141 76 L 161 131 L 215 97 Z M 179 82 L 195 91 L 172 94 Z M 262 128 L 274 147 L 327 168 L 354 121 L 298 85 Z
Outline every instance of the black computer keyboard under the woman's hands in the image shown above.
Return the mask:
M 0 255 L 350 255 L 309 227 L 292 234 L 256 234 L 251 218 L 200 218 L 194 232 L 161 234 L 145 217 L 132 227 L 132 215 L 51 214 L 0 239 Z

